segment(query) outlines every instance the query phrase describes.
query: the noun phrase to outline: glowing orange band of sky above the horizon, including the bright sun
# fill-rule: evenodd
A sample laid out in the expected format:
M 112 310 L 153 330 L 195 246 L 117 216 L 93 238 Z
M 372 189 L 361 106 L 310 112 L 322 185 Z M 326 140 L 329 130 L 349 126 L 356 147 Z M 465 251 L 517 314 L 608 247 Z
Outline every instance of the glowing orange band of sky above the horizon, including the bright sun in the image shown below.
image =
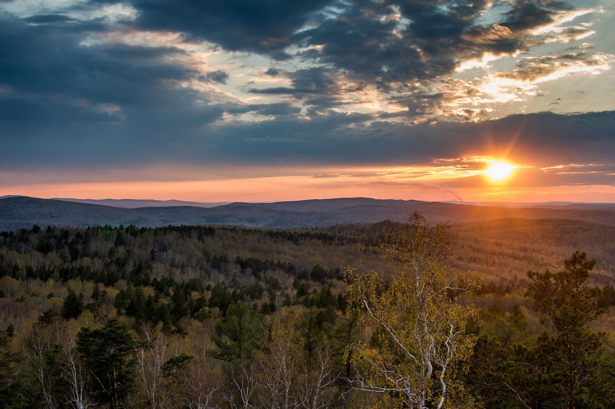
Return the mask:
M 577 166 L 577 165 L 575 165 Z M 514 165 L 492 157 L 472 157 L 435 166 L 408 166 L 371 169 L 303 169 L 294 175 L 217 176 L 217 179 L 133 180 L 99 182 L 21 181 L 41 177 L 36 174 L 5 174 L 0 196 L 24 195 L 39 198 L 153 199 L 203 202 L 287 201 L 340 197 L 414 199 L 425 201 L 579 201 L 615 202 L 613 185 L 579 185 L 567 182 L 560 168 L 542 169 Z M 593 168 L 592 168 L 593 169 Z M 146 172 L 143 172 L 145 174 Z M 207 172 L 204 172 L 207 173 Z M 209 173 L 210 174 L 210 173 Z M 594 174 L 593 170 L 590 174 Z M 61 179 L 63 175 L 58 175 Z M 111 175 L 110 177 L 114 177 Z M 135 174 L 137 177 L 142 174 Z M 180 175 L 183 176 L 183 175 Z M 188 173 L 194 176 L 194 173 Z M 215 176 L 212 176 L 215 177 Z M 547 177 L 547 184 L 542 178 Z M 558 184 L 552 184 L 555 179 Z M 2 173 L 0 173 L 2 179 Z M 42 179 L 42 177 L 41 177 Z M 84 177 L 83 179 L 87 179 Z M 506 186 L 506 189 L 502 189 Z

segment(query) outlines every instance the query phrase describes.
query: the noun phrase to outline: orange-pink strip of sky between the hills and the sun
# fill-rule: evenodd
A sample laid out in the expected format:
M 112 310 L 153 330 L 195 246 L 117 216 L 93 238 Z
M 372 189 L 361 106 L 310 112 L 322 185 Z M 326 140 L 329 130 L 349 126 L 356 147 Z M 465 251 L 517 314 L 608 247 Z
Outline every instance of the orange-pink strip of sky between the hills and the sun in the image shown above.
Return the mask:
M 12 185 L 2 195 L 39 198 L 154 199 L 186 201 L 285 201 L 339 197 L 415 199 L 426 201 L 579 201 L 614 203 L 615 187 L 603 185 L 560 187 L 514 187 L 502 191 L 493 187 L 446 188 L 437 185 L 386 183 L 379 178 L 310 179 L 308 177 L 263 177 L 224 181 L 106 182 L 73 184 Z

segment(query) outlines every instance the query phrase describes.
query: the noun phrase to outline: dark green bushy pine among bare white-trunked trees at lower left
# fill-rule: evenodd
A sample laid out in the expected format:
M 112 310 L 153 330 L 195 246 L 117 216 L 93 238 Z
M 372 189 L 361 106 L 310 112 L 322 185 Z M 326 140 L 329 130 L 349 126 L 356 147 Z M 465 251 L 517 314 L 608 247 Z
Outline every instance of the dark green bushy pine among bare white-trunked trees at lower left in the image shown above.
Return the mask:
M 101 329 L 84 327 L 77 334 L 77 351 L 92 375 L 92 387 L 101 402 L 119 408 L 130 392 L 134 378 L 133 354 L 148 343 L 135 341 L 132 334 L 115 321 Z

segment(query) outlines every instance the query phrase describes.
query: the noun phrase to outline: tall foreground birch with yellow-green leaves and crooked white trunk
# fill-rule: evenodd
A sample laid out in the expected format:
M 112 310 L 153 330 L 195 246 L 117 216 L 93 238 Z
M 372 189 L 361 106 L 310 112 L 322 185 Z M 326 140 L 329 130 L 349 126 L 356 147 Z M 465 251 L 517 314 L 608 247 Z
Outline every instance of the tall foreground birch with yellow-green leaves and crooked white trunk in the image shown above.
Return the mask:
M 480 285 L 479 277 L 451 274 L 446 224 L 431 227 L 415 211 L 385 233 L 381 247 L 394 267 L 390 280 L 376 271 L 346 270 L 351 309 L 365 311 L 360 327 L 373 334 L 369 342 L 347 346 L 346 360 L 358 370 L 349 381 L 354 389 L 384 394 L 389 407 L 450 407 L 452 395 L 462 395 L 454 376 L 475 343 L 464 332 L 473 308 L 453 294 Z

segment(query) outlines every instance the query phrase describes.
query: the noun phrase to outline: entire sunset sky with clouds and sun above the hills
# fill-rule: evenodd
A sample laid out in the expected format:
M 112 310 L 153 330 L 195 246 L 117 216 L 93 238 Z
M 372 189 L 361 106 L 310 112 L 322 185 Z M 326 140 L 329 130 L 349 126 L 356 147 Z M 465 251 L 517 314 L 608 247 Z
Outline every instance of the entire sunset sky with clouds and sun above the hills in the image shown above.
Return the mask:
M 615 0 L 0 0 L 0 196 L 615 202 Z

